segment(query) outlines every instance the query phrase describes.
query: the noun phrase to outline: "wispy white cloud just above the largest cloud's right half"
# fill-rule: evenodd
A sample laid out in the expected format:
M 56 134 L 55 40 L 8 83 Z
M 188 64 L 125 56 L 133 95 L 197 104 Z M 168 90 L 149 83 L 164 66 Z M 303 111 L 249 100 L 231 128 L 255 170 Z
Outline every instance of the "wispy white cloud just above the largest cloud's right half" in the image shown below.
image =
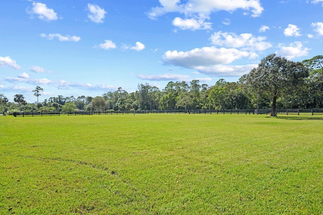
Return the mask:
M 263 51 L 272 47 L 272 44 L 265 42 L 266 37 L 255 37 L 250 33 L 236 35 L 228 32 L 215 32 L 211 35 L 212 44 L 230 48 L 243 48 L 244 50 Z

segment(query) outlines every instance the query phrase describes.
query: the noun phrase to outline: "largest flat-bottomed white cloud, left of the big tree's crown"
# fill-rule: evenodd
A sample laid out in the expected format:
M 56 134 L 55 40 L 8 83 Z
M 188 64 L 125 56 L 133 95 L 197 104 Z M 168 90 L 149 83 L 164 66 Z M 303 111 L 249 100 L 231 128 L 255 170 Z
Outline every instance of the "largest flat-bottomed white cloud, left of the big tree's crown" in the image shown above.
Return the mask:
M 254 55 L 256 54 L 253 52 L 240 51 L 234 48 L 211 46 L 196 48 L 187 52 L 167 51 L 163 55 L 163 61 L 165 64 L 193 68 L 199 73 L 210 76 L 231 77 L 246 74 L 254 65 L 233 66 L 224 64 L 229 64 L 242 57 L 253 57 Z

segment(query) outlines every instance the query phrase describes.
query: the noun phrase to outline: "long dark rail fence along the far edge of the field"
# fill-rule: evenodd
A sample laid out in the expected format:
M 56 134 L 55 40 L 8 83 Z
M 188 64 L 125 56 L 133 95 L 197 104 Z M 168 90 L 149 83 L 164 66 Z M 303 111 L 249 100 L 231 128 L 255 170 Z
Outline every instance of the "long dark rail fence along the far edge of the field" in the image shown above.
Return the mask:
M 76 111 L 76 112 L 14 112 L 17 116 L 112 115 L 112 114 L 270 114 L 271 109 L 221 109 L 221 110 L 135 110 L 135 111 Z M 277 114 L 323 114 L 323 108 L 277 109 Z

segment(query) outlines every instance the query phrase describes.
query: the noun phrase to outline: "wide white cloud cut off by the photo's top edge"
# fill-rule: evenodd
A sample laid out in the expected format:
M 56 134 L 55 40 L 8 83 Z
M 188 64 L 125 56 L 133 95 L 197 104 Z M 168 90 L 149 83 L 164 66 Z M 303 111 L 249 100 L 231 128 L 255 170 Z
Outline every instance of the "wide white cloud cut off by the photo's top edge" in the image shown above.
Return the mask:
M 156 19 L 171 12 L 185 14 L 185 16 L 198 16 L 200 18 L 208 17 L 212 12 L 228 11 L 233 12 L 238 9 L 251 11 L 252 17 L 258 17 L 263 12 L 259 0 L 231 0 L 231 1 L 214 1 L 214 0 L 188 0 L 181 4 L 180 0 L 159 0 L 161 7 L 151 8 L 148 13 L 150 19 Z

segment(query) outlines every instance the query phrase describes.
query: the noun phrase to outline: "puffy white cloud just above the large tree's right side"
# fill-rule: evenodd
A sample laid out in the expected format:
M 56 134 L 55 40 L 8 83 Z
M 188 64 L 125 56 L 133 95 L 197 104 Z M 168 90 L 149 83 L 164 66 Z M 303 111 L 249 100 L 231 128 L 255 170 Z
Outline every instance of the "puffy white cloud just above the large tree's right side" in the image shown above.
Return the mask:
M 284 44 L 279 44 L 280 50 L 276 51 L 276 54 L 286 57 L 288 60 L 295 57 L 307 56 L 310 48 L 303 47 L 301 42 L 294 42 L 285 46 Z

